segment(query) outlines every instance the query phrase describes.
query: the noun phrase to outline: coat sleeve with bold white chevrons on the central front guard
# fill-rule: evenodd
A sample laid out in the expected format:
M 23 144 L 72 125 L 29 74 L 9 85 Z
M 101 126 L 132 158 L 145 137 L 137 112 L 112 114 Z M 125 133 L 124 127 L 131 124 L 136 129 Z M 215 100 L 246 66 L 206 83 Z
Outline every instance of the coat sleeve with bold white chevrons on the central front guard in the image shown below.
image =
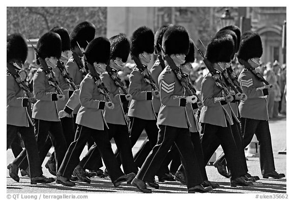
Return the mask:
M 186 106 L 185 96 L 174 95 L 175 79 L 170 73 L 159 77 L 160 100 L 166 106 Z

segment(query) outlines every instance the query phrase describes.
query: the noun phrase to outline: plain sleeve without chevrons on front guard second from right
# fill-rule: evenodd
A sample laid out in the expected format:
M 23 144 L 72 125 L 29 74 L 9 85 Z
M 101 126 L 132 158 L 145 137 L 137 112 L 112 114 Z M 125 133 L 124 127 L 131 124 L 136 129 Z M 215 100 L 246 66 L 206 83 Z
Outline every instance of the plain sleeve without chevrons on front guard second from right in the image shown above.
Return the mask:
M 211 76 L 206 76 L 201 82 L 201 99 L 202 103 L 208 107 L 215 107 L 227 104 L 225 97 L 215 97 L 214 94 L 215 80 Z

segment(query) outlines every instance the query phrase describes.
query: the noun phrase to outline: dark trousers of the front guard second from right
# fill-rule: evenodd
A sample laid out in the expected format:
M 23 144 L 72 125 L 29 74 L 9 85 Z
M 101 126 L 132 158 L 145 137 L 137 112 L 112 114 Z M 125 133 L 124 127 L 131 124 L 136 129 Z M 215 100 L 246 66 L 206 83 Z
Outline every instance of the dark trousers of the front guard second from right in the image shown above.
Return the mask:
M 246 172 L 242 167 L 240 155 L 230 126 L 221 127 L 207 123 L 201 123 L 200 125 L 204 165 L 208 164 L 213 153 L 221 145 L 226 156 L 227 165 L 230 169 L 230 180 L 244 176 Z

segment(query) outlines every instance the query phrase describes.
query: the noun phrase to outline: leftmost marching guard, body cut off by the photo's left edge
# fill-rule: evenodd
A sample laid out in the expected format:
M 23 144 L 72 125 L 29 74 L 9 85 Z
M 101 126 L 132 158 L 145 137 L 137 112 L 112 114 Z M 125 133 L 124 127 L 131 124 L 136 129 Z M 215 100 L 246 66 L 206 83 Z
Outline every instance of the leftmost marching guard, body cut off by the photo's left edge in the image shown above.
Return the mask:
M 30 103 L 35 103 L 36 100 L 33 96 L 28 95 L 29 90 L 23 90 L 26 73 L 22 71 L 21 67 L 26 57 L 27 44 L 23 37 L 20 34 L 7 36 L 7 149 L 18 132 L 25 147 L 17 158 L 9 163 L 7 168 L 9 169 L 9 176 L 19 182 L 19 164 L 22 160 L 27 159 L 31 184 L 51 183 L 55 181 L 53 178 L 43 176 L 34 124 L 27 112 L 27 106 Z M 23 76 L 23 72 L 25 76 Z

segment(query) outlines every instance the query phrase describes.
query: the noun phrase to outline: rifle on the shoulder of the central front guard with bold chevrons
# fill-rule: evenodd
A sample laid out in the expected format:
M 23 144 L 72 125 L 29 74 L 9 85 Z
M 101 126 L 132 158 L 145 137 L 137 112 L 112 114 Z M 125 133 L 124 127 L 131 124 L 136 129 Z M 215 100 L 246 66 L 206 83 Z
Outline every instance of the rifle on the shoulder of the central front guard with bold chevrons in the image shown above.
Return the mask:
M 164 59 L 167 61 L 168 65 L 170 66 L 171 70 L 174 72 L 174 74 L 176 75 L 178 80 L 181 82 L 181 84 L 182 84 L 183 88 L 185 89 L 185 91 L 187 92 L 188 96 L 192 96 L 192 95 L 196 96 L 196 98 L 197 98 L 196 104 L 197 104 L 198 108 L 203 107 L 203 104 L 200 101 L 200 99 L 198 98 L 198 96 L 196 94 L 196 90 L 191 85 L 189 78 L 181 75 L 182 71 L 180 70 L 180 68 L 178 68 L 176 66 L 173 59 L 171 59 L 171 57 L 165 53 L 164 49 L 161 47 L 160 44 L 159 44 L 159 47 L 161 48 L 162 52 L 164 53 Z

